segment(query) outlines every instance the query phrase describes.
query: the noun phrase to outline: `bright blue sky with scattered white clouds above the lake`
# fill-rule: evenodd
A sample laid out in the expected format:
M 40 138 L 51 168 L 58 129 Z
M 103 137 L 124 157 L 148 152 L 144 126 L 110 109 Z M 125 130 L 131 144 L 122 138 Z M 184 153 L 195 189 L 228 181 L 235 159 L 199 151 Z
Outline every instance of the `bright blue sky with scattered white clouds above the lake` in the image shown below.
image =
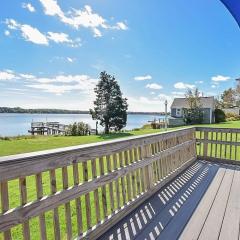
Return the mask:
M 31 0 L 0 8 L 0 106 L 87 110 L 100 71 L 132 111 L 234 87 L 240 30 L 219 0 Z

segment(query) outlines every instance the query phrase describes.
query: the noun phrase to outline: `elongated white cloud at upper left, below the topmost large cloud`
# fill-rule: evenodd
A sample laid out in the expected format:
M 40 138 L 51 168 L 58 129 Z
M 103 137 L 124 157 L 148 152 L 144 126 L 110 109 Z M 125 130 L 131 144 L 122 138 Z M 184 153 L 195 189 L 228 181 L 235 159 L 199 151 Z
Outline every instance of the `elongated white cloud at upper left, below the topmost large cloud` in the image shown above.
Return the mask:
M 40 45 L 49 45 L 49 40 L 55 43 L 66 43 L 71 47 L 81 46 L 81 39 L 77 38 L 75 40 L 70 39 L 69 35 L 66 33 L 55 33 L 48 32 L 47 34 L 41 33 L 37 28 L 34 28 L 27 24 L 20 24 L 14 19 L 6 19 L 5 23 L 8 28 L 11 30 L 19 30 L 22 34 L 22 37 L 29 42 L 40 44 Z

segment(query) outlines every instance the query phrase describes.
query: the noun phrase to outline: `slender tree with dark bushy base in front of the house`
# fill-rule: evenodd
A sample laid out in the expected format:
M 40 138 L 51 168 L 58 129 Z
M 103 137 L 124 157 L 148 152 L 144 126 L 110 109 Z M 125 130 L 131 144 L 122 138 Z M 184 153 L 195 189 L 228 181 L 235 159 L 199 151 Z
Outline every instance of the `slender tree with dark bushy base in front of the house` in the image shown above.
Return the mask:
M 203 112 L 201 106 L 200 92 L 196 88 L 194 91 L 189 89 L 185 94 L 188 108 L 183 109 L 183 119 L 186 124 L 199 124 L 203 122 Z

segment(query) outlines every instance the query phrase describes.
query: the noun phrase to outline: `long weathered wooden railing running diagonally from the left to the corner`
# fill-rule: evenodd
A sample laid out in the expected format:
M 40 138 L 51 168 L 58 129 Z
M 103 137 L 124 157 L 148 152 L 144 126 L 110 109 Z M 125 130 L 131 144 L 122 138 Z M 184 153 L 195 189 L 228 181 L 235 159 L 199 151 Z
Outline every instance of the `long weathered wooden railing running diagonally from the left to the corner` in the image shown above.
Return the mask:
M 0 239 L 96 239 L 196 160 L 195 128 L 0 158 Z

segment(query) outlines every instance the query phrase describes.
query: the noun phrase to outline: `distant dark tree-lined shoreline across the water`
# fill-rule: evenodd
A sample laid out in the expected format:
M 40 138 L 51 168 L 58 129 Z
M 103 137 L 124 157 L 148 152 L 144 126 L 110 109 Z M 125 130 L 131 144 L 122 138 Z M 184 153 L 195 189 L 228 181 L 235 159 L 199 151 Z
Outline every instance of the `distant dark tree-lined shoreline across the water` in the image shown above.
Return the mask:
M 24 109 L 20 107 L 0 107 L 1 113 L 22 113 L 22 114 L 90 114 L 84 110 L 64 110 L 64 109 Z M 165 115 L 164 112 L 128 112 L 129 115 Z

